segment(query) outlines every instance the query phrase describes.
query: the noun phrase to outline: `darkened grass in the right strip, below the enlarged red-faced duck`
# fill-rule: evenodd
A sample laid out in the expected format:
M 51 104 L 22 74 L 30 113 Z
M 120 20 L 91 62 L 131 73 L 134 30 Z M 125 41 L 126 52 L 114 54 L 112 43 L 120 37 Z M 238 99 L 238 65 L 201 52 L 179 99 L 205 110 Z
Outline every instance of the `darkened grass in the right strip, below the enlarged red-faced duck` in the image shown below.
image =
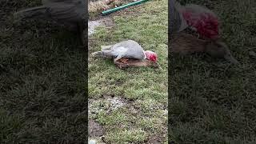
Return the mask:
M 255 1 L 182 1 L 210 7 L 241 66 L 170 55 L 169 137 L 175 143 L 255 143 Z

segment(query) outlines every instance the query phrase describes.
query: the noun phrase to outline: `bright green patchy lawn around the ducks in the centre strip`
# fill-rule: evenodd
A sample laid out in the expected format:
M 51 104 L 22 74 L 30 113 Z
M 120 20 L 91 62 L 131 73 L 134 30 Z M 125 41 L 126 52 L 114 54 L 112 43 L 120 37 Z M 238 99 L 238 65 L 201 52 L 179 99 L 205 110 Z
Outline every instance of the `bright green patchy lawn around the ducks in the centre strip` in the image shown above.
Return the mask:
M 167 143 L 167 1 L 146 2 L 110 17 L 114 27 L 98 28 L 90 53 L 133 39 L 155 51 L 162 68 L 119 70 L 111 60 L 89 58 L 90 119 L 103 126 L 106 143 Z M 124 105 L 111 110 L 108 98 L 120 98 Z

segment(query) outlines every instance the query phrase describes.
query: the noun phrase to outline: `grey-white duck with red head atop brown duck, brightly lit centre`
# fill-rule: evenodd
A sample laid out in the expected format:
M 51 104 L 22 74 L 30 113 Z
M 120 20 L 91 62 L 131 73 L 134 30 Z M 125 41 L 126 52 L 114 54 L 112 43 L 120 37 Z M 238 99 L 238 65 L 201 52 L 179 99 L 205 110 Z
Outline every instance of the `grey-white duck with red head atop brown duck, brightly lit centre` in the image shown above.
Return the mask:
M 134 40 L 125 40 L 111 46 L 102 46 L 102 50 L 91 54 L 93 58 L 112 58 L 119 68 L 131 66 L 157 67 L 158 55 L 150 50 L 143 50 Z

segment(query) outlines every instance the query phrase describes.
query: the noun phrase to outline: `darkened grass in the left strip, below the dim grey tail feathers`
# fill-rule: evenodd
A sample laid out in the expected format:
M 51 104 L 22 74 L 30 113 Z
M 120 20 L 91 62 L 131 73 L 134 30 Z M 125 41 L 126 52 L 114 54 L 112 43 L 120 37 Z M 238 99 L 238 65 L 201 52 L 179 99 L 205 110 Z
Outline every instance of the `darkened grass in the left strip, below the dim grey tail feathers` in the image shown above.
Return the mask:
M 0 2 L 0 143 L 86 142 L 85 50 L 49 22 L 13 22 L 39 2 Z

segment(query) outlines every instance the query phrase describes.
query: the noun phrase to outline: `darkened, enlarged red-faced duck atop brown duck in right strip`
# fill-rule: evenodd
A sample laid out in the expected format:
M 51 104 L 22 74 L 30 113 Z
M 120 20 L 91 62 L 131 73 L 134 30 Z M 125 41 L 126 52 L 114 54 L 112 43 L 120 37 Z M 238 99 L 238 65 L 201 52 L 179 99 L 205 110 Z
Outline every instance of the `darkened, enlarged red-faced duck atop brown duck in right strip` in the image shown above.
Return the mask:
M 170 0 L 169 47 L 175 54 L 206 53 L 238 64 L 220 35 L 219 18 L 205 6 Z

